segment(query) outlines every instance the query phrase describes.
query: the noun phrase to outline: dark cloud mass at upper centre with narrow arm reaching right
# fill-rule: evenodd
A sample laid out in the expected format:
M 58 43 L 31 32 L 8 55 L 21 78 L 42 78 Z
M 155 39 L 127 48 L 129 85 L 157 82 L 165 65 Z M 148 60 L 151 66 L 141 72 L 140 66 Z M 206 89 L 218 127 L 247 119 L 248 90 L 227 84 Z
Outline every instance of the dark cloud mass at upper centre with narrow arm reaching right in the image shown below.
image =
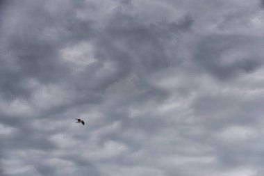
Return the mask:
M 181 22 L 144 24 L 131 15 L 116 13 L 106 26 L 104 35 L 96 40 L 97 58 L 109 59 L 122 65 L 122 74 L 129 72 L 155 72 L 170 63 L 165 47 L 170 38 L 181 31 L 188 31 L 192 18 Z

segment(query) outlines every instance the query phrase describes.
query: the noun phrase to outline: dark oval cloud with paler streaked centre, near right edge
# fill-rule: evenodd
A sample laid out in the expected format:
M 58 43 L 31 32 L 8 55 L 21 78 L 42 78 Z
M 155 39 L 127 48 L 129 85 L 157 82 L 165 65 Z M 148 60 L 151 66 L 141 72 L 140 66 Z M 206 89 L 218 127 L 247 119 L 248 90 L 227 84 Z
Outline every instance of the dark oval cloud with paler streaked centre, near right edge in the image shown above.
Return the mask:
M 201 40 L 194 60 L 220 80 L 233 79 L 240 72 L 254 72 L 262 61 L 254 56 L 255 50 L 250 49 L 248 40 L 239 36 L 206 37 Z M 240 56 L 245 50 L 250 53 L 249 57 Z

